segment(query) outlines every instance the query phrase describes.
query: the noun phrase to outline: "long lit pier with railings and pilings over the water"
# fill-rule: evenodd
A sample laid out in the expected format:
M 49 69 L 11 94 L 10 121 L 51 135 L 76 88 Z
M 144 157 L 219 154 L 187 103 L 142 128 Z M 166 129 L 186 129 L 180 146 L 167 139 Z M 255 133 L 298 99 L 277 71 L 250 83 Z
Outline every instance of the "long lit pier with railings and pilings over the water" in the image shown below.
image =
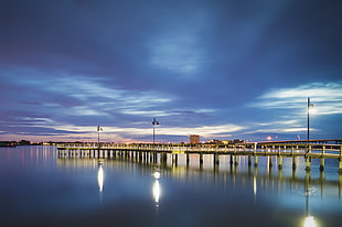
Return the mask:
M 339 144 L 338 144 L 339 143 Z M 325 159 L 339 161 L 339 172 L 342 173 L 342 144 L 327 144 L 324 141 L 282 141 L 238 143 L 229 145 L 185 145 L 185 144 L 118 144 L 118 143 L 65 143 L 57 147 L 58 158 L 88 158 L 88 159 L 115 159 L 126 158 L 136 161 L 167 163 L 168 156 L 172 155 L 172 163 L 177 165 L 178 155 L 186 155 L 186 164 L 191 154 L 200 155 L 200 165 L 203 165 L 203 155 L 213 154 L 213 163 L 220 165 L 221 155 L 229 155 L 231 164 L 238 164 L 238 156 L 248 158 L 248 165 L 258 165 L 259 156 L 268 156 L 269 166 L 272 166 L 272 156 L 277 159 L 278 167 L 282 167 L 284 158 L 292 159 L 292 167 L 297 167 L 298 158 L 306 160 L 306 170 L 311 170 L 311 160 L 320 160 L 320 170 L 324 170 Z M 169 155 L 168 155 L 169 154 Z

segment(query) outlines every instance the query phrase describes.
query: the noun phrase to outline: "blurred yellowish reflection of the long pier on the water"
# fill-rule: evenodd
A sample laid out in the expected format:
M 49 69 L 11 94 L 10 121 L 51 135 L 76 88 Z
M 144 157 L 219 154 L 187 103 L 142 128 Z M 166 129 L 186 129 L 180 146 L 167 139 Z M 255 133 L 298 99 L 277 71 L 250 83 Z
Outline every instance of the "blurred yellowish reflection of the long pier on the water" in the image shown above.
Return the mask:
M 231 190 L 250 190 L 250 193 L 254 195 L 257 195 L 258 192 L 297 192 L 298 194 L 308 195 L 308 190 L 310 191 L 311 188 L 314 188 L 316 193 L 322 197 L 324 197 L 324 194 L 330 196 L 333 195 L 336 198 L 341 198 L 342 196 L 342 175 L 338 175 L 336 177 L 325 177 L 324 172 L 320 172 L 319 175 L 316 175 L 309 171 L 302 174 L 303 171 L 300 172 L 298 170 L 292 170 L 289 172 L 289 170 L 272 170 L 271 167 L 265 171 L 265 169 L 263 170 L 258 166 L 239 166 L 234 163 L 224 166 L 221 170 L 193 165 L 186 166 L 185 159 L 183 159 L 185 155 L 186 154 L 180 155 L 180 159 L 183 161 L 180 162 L 178 166 L 170 165 L 171 163 L 156 164 L 148 161 L 145 162 L 143 160 L 137 160 L 136 162 L 135 159 L 126 159 L 125 156 L 104 160 L 104 162 L 98 165 L 96 160 L 90 159 L 58 159 L 57 164 L 58 166 L 88 166 L 93 169 L 98 166 L 97 183 L 100 192 L 104 185 L 104 174 L 101 173 L 103 167 L 106 169 L 107 172 L 114 170 L 115 172 L 118 172 L 119 170 L 132 174 L 139 172 L 139 174 L 152 175 L 152 196 L 156 207 L 159 207 L 160 202 L 161 185 L 159 179 L 161 174 L 163 177 L 173 177 L 179 181 L 185 180 L 184 182 L 190 184 L 196 182 L 193 181 L 193 179 L 201 179 L 201 181 L 196 182 L 199 187 L 201 184 L 206 184 L 215 187 L 215 190 L 224 190 L 226 192 L 229 191 L 227 187 L 231 186 Z M 207 163 L 209 160 L 212 160 L 212 156 L 204 155 L 204 162 Z M 242 156 L 239 161 L 242 163 L 247 163 L 246 160 L 247 156 Z

